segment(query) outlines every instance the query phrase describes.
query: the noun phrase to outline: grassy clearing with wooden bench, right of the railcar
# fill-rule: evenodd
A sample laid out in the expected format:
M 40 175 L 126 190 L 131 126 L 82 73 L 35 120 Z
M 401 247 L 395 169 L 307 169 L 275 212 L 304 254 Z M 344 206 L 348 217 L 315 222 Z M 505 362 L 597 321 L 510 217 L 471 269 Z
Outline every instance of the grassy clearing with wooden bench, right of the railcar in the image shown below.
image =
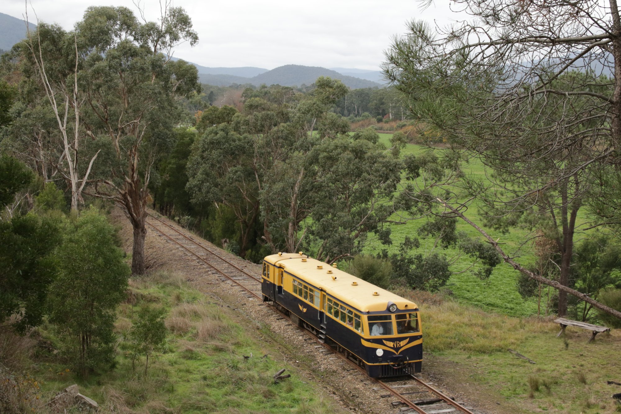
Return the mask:
M 607 384 L 621 382 L 618 330 L 599 334 L 592 343 L 587 343 L 589 331 L 571 327 L 556 338 L 560 328 L 553 318 L 489 313 L 442 295 L 417 297 L 404 288 L 396 293 L 419 301 L 425 351 L 433 355 L 424 371 L 461 384 L 461 392 L 496 400 L 497 412 L 621 412 L 621 404 L 611 398 L 621 387 Z

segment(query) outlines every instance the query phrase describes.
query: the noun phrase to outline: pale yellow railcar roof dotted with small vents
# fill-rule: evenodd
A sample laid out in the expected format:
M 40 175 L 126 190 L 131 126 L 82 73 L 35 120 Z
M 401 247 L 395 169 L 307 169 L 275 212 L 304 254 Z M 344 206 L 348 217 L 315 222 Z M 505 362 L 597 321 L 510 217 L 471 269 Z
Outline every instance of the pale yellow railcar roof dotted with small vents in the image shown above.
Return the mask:
M 306 262 L 302 262 L 302 259 L 306 259 Z M 286 272 L 306 280 L 315 287 L 324 288 L 326 293 L 337 300 L 341 300 L 363 312 L 384 311 L 388 302 L 395 303 L 399 310 L 418 308 L 412 301 L 304 254 L 273 254 L 265 257 L 265 261 L 283 267 Z M 321 266 L 322 269 L 317 269 L 317 266 Z M 328 273 L 329 270 L 332 270 L 332 274 Z M 356 282 L 358 285 L 352 285 L 352 282 Z M 374 292 L 377 292 L 378 295 L 373 295 Z

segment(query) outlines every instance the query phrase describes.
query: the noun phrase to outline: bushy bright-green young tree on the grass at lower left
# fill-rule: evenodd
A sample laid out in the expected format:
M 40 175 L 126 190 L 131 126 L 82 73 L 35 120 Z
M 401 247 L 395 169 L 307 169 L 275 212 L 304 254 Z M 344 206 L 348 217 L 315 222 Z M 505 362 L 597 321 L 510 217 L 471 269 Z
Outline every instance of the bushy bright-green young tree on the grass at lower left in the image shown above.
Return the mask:
M 116 229 L 95 209 L 68 224 L 57 249 L 60 274 L 48 294 L 49 321 L 65 355 L 86 377 L 114 364 L 116 307 L 127 298 L 130 270 Z

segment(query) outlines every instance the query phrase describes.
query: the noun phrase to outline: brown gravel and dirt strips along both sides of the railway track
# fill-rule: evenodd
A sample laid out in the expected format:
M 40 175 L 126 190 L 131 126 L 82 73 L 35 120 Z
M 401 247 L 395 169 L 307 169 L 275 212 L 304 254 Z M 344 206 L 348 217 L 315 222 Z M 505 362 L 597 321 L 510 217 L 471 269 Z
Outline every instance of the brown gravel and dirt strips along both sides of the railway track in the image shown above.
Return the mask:
M 160 216 L 160 214 L 154 211 L 150 211 L 150 213 L 155 214 L 156 217 L 164 220 L 170 226 L 181 229 L 176 223 Z M 132 229 L 129 220 L 119 208 L 115 208 L 111 216 L 119 226 L 122 226 L 120 236 L 124 242 L 125 250 L 130 252 Z M 188 231 L 184 230 L 184 232 Z M 196 235 L 193 237 L 247 272 L 260 274 L 260 265 L 229 254 Z M 270 353 L 274 359 L 281 357 L 283 361 L 297 366 L 297 372 L 291 372 L 292 375 L 306 378 L 309 382 L 317 384 L 320 389 L 324 390 L 326 398 L 332 398 L 344 409 L 356 413 L 396 414 L 400 412 L 399 407 L 395 408 L 391 405 L 395 399 L 381 398 L 380 395 L 385 391 L 373 390 L 377 385 L 365 375 L 353 370 L 340 358 L 327 354 L 323 347 L 315 348 L 317 344 L 311 344 L 309 337 L 299 328 L 291 326 L 287 320 L 278 320 L 278 315 L 269 311 L 265 305 L 258 303 L 257 300 L 249 299 L 240 292 L 238 287 L 233 287 L 232 283 L 220 282 L 217 272 L 199 262 L 196 257 L 189 255 L 173 242 L 158 236 L 150 227 L 148 227 L 145 241 L 145 259 L 148 272 L 165 269 L 185 275 L 193 287 L 212 300 L 220 301 L 227 308 L 230 308 L 232 311 L 230 315 L 235 318 L 235 322 L 255 326 L 255 339 L 265 343 L 266 353 Z M 468 406 L 475 407 L 476 412 L 481 414 L 522 413 L 521 410 L 511 410 L 509 407 L 496 405 L 497 401 L 502 401 L 502 397 L 486 395 L 486 390 L 477 390 L 474 384 L 466 385 L 451 382 L 453 377 L 447 375 L 447 364 L 440 360 L 434 361 L 437 358 L 429 358 L 427 355 L 425 358 L 427 360 L 423 365 L 423 379 L 434 383 L 435 387 L 458 398 L 460 402 L 463 401 Z M 438 368 L 437 375 L 434 375 L 434 368 L 432 367 Z

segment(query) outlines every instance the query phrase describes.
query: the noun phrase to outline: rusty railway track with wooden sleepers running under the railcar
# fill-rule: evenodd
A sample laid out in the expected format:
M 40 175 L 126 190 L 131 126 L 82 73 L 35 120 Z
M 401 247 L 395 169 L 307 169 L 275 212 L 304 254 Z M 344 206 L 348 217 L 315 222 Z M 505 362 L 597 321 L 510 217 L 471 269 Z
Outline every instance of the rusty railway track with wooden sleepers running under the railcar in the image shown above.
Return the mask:
M 155 230 L 158 234 L 165 237 L 173 244 L 176 244 L 186 254 L 194 257 L 199 262 L 211 267 L 212 274 L 217 274 L 221 281 L 229 282 L 233 286 L 237 286 L 240 292 L 251 300 L 258 300 L 263 303 L 263 295 L 261 294 L 261 279 L 251 274 L 243 267 L 238 267 L 229 260 L 220 255 L 219 252 L 212 251 L 208 247 L 204 246 L 196 237 L 192 236 L 186 231 L 179 231 L 179 229 L 171 226 L 165 221 L 148 214 L 147 225 Z M 268 303 L 269 306 L 279 318 L 289 319 L 287 315 L 284 315 L 276 308 Z M 343 361 L 350 364 L 351 367 L 360 370 L 363 375 L 366 375 L 366 371 L 362 369 L 358 364 L 346 358 L 340 352 L 337 352 L 332 346 L 327 343 L 321 343 L 319 338 L 309 331 L 304 330 L 304 333 L 308 334 L 314 341 L 309 342 L 309 346 L 315 348 L 325 347 L 327 352 L 339 357 Z M 324 350 L 322 350 L 324 351 Z M 324 351 L 325 352 L 325 351 Z M 373 387 L 374 390 L 386 390 L 388 393 L 379 395 L 380 398 L 397 398 L 396 401 L 389 402 L 389 405 L 396 409 L 398 413 L 420 413 L 420 414 L 443 414 L 443 413 L 466 413 L 476 414 L 471 411 L 470 407 L 465 407 L 463 403 L 457 402 L 452 398 L 445 395 L 440 390 L 433 387 L 433 384 L 425 383 L 423 380 L 415 377 L 414 375 L 395 377 L 389 379 L 371 379 L 377 387 Z

